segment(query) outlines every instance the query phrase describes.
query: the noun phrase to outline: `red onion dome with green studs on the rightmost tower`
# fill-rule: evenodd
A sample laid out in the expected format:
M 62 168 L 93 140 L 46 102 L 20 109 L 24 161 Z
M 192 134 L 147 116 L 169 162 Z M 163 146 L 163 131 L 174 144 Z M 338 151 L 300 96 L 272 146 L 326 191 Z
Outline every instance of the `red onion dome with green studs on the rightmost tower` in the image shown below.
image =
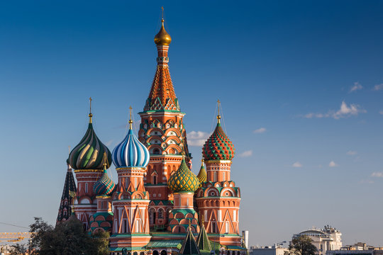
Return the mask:
M 205 142 L 202 148 L 202 155 L 205 160 L 231 160 L 235 149 L 231 140 L 223 132 L 221 123 L 218 123 L 213 134 Z

